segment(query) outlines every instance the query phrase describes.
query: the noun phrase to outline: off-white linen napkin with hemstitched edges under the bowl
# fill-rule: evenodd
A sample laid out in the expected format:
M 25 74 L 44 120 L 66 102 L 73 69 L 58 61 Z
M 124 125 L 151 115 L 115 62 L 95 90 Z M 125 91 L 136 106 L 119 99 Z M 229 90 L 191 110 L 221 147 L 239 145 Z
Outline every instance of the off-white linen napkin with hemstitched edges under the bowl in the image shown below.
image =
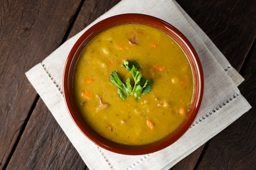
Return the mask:
M 74 125 L 63 98 L 63 69 L 76 40 L 93 24 L 121 13 L 152 15 L 175 26 L 193 44 L 204 71 L 204 99 L 191 128 L 171 146 L 147 155 L 120 155 L 93 144 Z M 90 170 L 167 170 L 251 108 L 237 88 L 243 77 L 174 0 L 122 0 L 26 75 Z

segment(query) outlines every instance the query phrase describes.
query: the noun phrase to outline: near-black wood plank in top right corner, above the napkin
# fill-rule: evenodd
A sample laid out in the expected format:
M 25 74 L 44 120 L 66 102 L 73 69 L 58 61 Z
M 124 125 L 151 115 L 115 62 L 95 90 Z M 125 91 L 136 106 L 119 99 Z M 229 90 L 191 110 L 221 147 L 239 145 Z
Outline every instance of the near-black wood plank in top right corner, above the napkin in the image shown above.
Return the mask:
M 176 1 L 239 71 L 256 38 L 256 1 Z

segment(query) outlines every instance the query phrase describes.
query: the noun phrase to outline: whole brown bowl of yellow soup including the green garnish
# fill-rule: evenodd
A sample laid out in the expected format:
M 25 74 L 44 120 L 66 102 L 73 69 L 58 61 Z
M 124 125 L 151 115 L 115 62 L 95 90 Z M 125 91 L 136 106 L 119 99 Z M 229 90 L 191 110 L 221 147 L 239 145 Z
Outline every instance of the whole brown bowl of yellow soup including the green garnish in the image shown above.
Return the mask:
M 204 77 L 189 40 L 149 15 L 94 24 L 74 44 L 63 93 L 74 124 L 112 152 L 142 155 L 170 146 L 202 104 Z

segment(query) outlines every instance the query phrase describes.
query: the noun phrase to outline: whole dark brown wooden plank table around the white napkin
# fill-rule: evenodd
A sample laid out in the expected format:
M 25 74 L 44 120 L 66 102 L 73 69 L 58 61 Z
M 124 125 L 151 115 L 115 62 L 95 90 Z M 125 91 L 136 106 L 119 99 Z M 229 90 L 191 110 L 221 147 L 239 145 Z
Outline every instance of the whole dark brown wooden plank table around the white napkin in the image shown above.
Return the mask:
M 88 169 L 25 72 L 118 2 L 0 2 L 0 170 Z M 253 108 L 171 170 L 255 170 L 256 1 L 177 2 L 245 77 Z

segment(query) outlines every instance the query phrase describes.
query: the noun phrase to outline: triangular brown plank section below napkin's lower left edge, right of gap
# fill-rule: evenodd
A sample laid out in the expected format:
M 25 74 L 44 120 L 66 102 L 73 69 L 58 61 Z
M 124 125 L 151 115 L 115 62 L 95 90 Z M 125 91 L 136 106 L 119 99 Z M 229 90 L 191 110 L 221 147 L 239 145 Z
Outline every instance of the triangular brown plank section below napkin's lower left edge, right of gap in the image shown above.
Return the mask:
M 41 98 L 6 168 L 34 169 L 85 169 L 83 160 Z

